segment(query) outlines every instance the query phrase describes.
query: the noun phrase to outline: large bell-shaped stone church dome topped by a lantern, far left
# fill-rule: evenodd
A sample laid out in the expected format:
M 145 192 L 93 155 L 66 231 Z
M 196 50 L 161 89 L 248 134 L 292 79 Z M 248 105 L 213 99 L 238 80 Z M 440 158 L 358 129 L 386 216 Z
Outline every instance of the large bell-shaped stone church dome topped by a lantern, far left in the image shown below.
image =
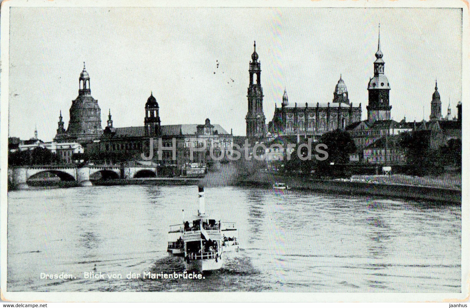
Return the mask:
M 66 134 L 70 139 L 80 143 L 90 143 L 101 138 L 103 131 L 101 127 L 101 109 L 98 100 L 91 96 L 90 77 L 85 69 L 78 78 L 78 96 L 72 101 L 69 110 L 70 121 Z

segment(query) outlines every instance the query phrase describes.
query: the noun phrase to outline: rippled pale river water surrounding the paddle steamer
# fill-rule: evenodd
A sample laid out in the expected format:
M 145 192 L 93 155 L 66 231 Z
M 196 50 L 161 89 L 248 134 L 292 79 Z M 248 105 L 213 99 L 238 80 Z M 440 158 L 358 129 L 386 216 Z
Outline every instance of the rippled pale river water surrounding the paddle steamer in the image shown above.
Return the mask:
M 461 207 L 250 187 L 206 188 L 206 212 L 239 229 L 239 253 L 204 279 L 183 272 L 168 225 L 196 186 L 8 192 L 8 291 L 445 292 L 461 290 Z M 84 272 L 105 276 L 85 278 Z M 45 274 L 72 279 L 41 279 Z M 107 275 L 118 274 L 120 278 Z

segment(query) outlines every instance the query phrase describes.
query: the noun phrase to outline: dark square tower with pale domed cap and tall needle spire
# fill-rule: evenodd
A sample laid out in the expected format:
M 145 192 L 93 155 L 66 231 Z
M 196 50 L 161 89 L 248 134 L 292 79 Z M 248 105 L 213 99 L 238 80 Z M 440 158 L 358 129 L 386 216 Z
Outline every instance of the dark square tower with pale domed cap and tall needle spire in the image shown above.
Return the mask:
M 380 24 L 379 39 L 376 52 L 376 61 L 374 61 L 374 77 L 370 78 L 367 90 L 369 92 L 369 102 L 367 106 L 367 119 L 374 122 L 377 120 L 390 120 L 389 92 L 390 85 L 387 77 L 384 75 L 385 62 L 382 59 L 384 54 L 380 51 Z

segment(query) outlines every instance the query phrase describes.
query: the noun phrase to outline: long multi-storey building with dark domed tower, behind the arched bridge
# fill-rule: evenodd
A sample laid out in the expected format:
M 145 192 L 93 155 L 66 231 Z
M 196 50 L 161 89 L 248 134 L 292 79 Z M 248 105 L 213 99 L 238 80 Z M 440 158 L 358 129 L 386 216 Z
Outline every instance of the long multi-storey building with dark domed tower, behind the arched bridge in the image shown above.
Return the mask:
M 108 125 L 101 141 L 94 145 L 93 156 L 107 163 L 142 162 L 144 159 L 141 154 L 144 154 L 152 157 L 149 161 L 160 168 L 160 175 L 176 176 L 190 169 L 194 163 L 202 167 L 210 162 L 211 151 L 218 158 L 222 154 L 226 155 L 227 150 L 233 146 L 232 133 L 228 133 L 219 124 L 211 124 L 210 119 L 206 119 L 204 124 L 161 125 L 158 108 L 152 93 L 145 104 L 144 126 L 115 128 L 109 113 Z M 153 138 L 152 150 L 150 138 Z M 158 156 L 159 139 L 162 146 L 161 159 Z M 175 148 L 175 157 L 172 147 Z M 191 147 L 196 149 L 193 150 L 192 158 Z M 204 151 L 201 150 L 203 148 Z

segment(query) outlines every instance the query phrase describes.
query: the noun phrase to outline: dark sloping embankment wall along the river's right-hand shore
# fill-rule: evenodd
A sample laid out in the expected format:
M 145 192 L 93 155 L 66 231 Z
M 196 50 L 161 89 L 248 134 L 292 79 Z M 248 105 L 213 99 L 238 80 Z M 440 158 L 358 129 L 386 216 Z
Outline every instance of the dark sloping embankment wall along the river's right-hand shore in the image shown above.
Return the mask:
M 286 183 L 294 190 L 301 189 L 328 193 L 462 203 L 462 192 L 458 189 L 404 184 L 368 183 L 351 180 L 317 180 L 262 172 L 256 172 L 255 174 L 239 179 L 237 185 L 254 185 L 270 188 L 275 182 Z

